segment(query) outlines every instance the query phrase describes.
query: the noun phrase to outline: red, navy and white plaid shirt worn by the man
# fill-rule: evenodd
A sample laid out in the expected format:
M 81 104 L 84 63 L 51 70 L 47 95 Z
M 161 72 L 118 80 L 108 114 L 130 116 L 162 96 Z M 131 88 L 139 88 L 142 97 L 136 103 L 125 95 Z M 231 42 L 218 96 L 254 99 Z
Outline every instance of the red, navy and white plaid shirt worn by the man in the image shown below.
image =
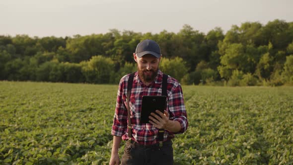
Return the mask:
M 129 74 L 130 75 L 130 74 Z M 124 76 L 119 83 L 115 115 L 111 134 L 128 139 L 127 133 L 127 82 L 129 75 Z M 155 81 L 146 86 L 135 73 L 132 92 L 130 96 L 132 139 L 139 144 L 151 145 L 158 143 L 158 129 L 152 124 L 140 124 L 142 97 L 143 95 L 162 95 L 163 73 L 158 71 Z M 176 120 L 181 124 L 181 130 L 175 134 L 183 133 L 188 126 L 187 114 L 183 102 L 183 93 L 180 83 L 168 76 L 167 80 L 167 108 L 169 119 Z M 165 130 L 164 141 L 174 137 L 174 133 Z

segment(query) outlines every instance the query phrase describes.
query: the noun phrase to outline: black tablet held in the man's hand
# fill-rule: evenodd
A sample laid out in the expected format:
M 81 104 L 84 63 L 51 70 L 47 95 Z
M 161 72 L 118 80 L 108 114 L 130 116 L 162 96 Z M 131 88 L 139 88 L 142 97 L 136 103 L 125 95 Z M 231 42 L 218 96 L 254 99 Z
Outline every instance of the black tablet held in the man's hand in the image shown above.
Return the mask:
M 142 102 L 142 111 L 141 111 L 141 121 L 140 123 L 149 123 L 148 116 L 151 112 L 155 113 L 155 110 L 159 110 L 162 113 L 164 113 L 164 110 L 166 109 L 166 96 L 151 96 L 151 95 L 145 95 L 143 96 L 143 102 Z

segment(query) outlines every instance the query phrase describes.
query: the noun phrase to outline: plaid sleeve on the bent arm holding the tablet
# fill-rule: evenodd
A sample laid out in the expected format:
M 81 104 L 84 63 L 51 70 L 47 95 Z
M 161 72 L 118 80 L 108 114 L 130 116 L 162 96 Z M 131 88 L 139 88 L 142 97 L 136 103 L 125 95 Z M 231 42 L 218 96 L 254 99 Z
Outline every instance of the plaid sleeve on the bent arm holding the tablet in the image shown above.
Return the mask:
M 183 133 L 187 130 L 188 120 L 180 83 L 173 86 L 171 93 L 169 93 L 168 96 L 168 108 L 172 116 L 170 119 L 178 121 L 181 125 L 181 130 L 179 132 L 176 132 L 175 134 Z

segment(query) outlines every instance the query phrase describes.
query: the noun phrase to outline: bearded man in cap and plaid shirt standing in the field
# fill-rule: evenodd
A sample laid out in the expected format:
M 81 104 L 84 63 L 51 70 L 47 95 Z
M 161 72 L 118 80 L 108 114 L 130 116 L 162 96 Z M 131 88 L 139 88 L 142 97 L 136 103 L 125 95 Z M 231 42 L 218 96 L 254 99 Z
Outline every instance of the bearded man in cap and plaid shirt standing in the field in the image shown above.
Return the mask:
M 188 120 L 180 83 L 159 70 L 161 56 L 155 41 L 147 39 L 140 42 L 133 53 L 138 71 L 125 75 L 120 80 L 111 132 L 113 147 L 110 165 L 120 163 L 118 150 L 122 140 L 126 144 L 121 165 L 173 164 L 172 139 L 175 134 L 186 131 Z M 141 124 L 142 97 L 162 95 L 163 88 L 166 88 L 167 97 L 164 113 L 156 110 L 157 114 L 151 113 L 148 117 L 149 123 Z

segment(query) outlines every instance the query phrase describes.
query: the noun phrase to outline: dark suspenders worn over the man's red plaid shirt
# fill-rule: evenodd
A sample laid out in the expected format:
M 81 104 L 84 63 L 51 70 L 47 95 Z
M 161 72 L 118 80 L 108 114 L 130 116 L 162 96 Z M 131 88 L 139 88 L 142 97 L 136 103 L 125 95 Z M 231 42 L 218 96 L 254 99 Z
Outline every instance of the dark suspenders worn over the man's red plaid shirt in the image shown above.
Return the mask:
M 133 78 L 134 78 L 135 72 L 129 75 L 128 82 L 127 82 L 127 118 L 128 118 L 128 138 L 131 140 L 132 138 L 132 127 L 131 127 L 131 118 L 130 118 L 130 106 L 129 106 L 129 101 L 130 101 L 130 94 L 131 94 L 131 89 L 132 89 L 132 84 L 133 84 Z M 162 95 L 167 96 L 167 80 L 168 80 L 168 75 L 163 74 L 163 80 L 162 80 Z M 162 146 L 162 142 L 164 139 L 164 129 L 159 129 L 158 132 L 158 141 L 160 143 L 160 147 Z

